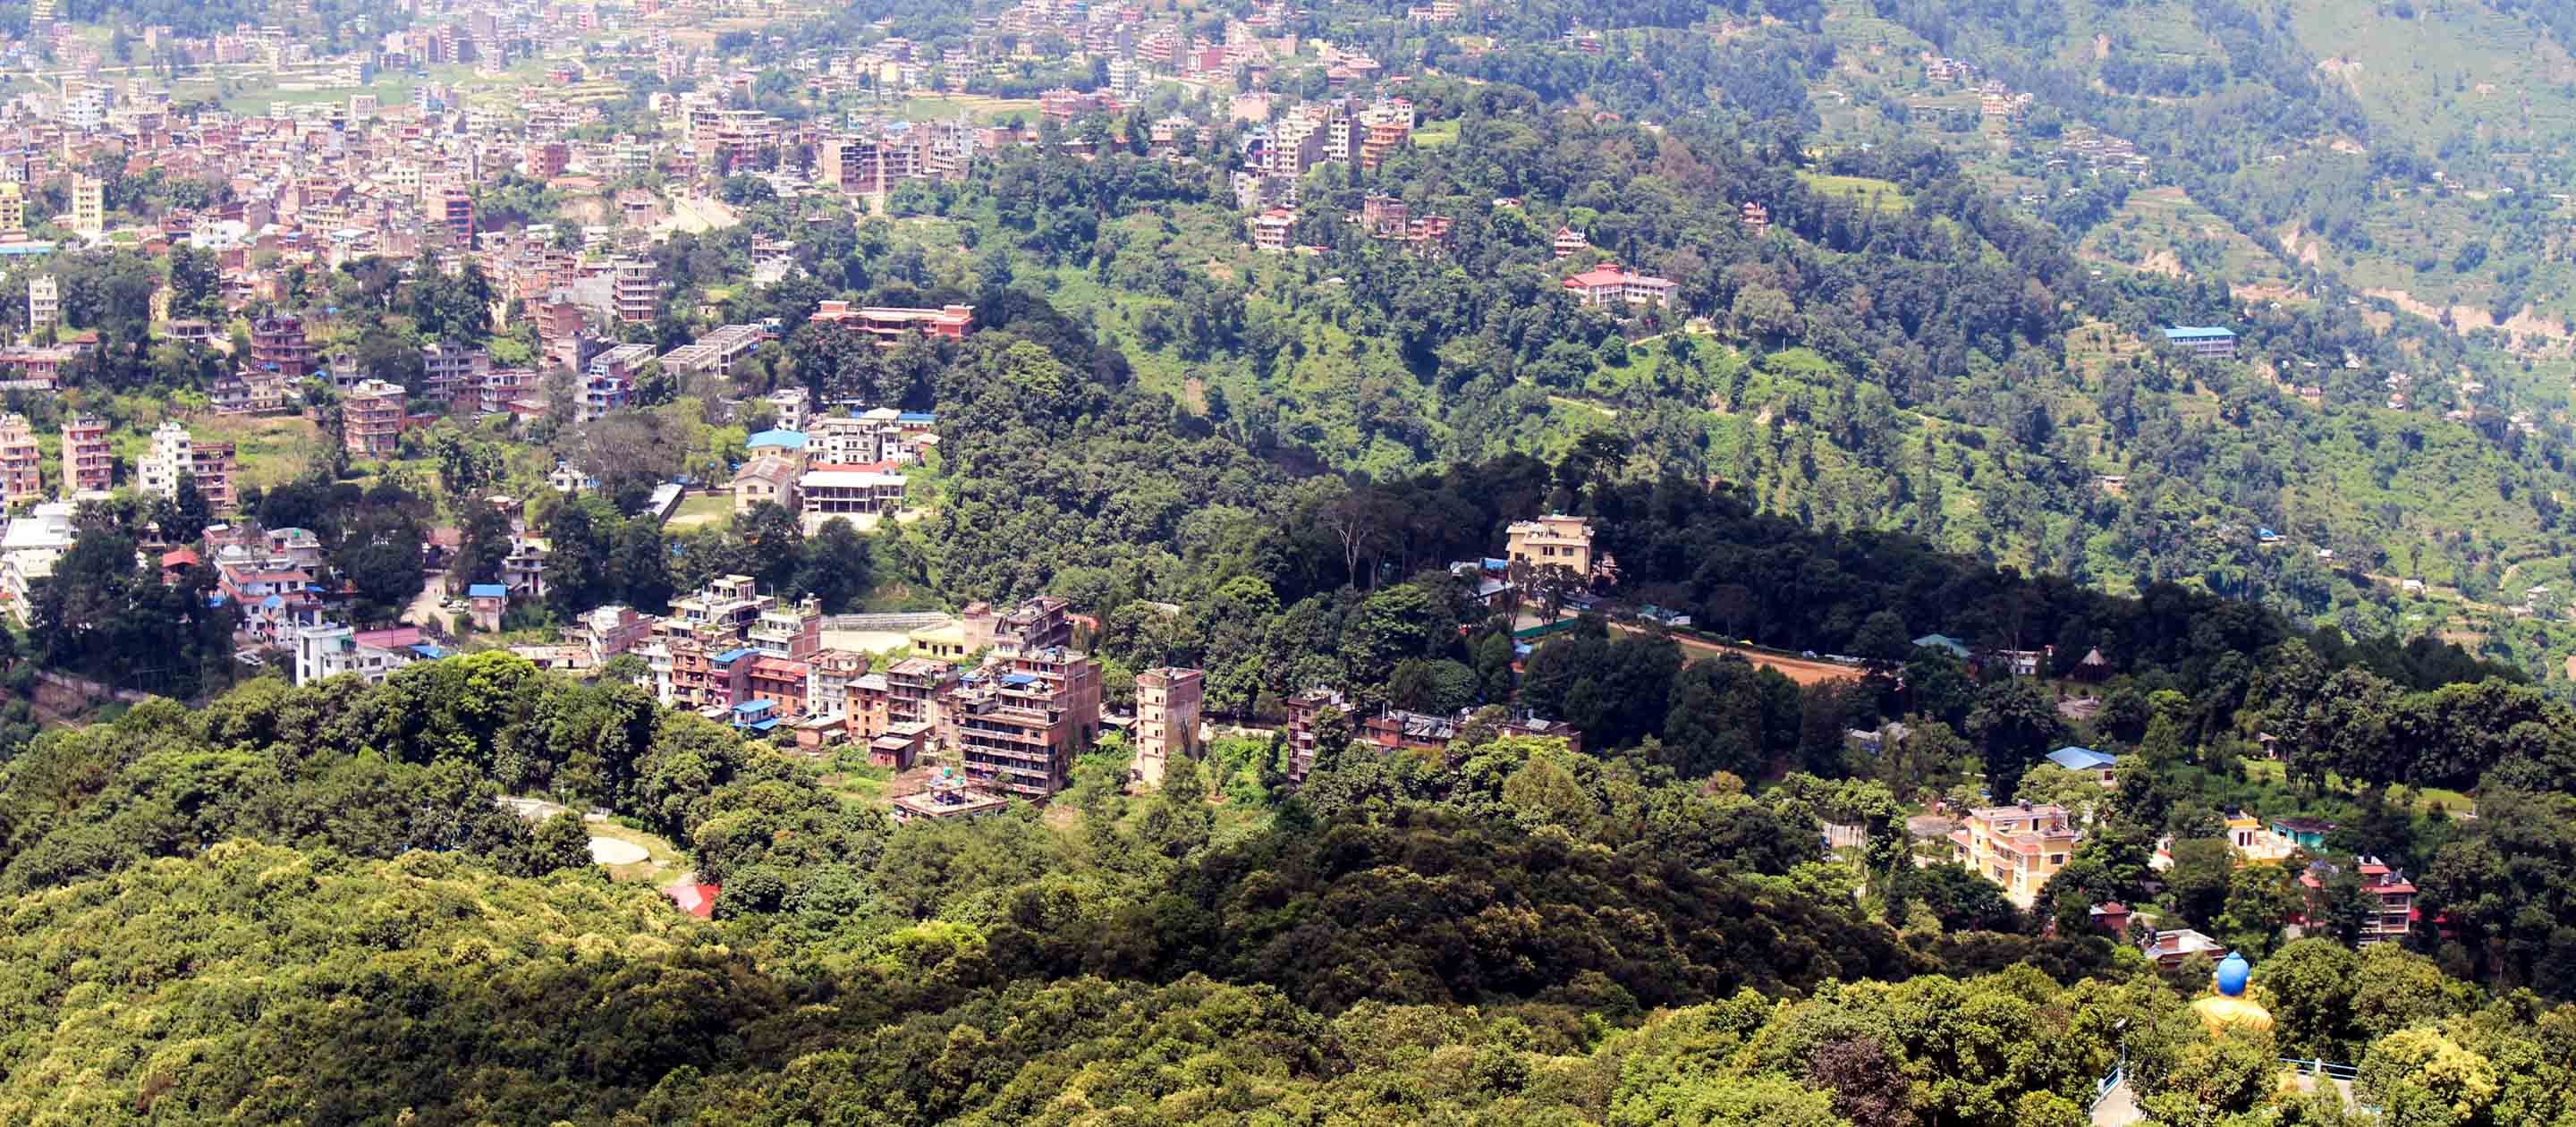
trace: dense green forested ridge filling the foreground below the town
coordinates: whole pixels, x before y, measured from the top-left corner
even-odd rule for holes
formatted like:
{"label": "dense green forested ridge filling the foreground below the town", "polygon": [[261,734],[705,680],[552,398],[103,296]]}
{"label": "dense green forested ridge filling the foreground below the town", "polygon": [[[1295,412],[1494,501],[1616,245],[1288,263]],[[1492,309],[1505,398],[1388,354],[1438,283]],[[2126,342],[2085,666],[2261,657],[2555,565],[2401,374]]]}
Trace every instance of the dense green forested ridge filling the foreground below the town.
{"label": "dense green forested ridge filling the foreground below the town", "polygon": [[[1273,803],[1252,744],[1149,795],[1087,764],[1069,818],[894,829],[631,695],[477,656],[49,731],[0,790],[0,1114],[2076,1124],[2125,1052],[2159,1122],[2349,1122],[2269,1094],[2293,1050],[2442,1114],[2409,1122],[2576,1114],[2576,1011],[2393,947],[2277,949],[2275,1050],[2210,1042],[2105,937],[2017,934],[1973,877],[1893,929],[1806,844],[1868,787],[1757,800],[1476,736],[1218,826]],[[227,764],[268,774],[209,785]],[[716,921],[605,883],[574,821],[492,808],[505,782],[670,829]]]}

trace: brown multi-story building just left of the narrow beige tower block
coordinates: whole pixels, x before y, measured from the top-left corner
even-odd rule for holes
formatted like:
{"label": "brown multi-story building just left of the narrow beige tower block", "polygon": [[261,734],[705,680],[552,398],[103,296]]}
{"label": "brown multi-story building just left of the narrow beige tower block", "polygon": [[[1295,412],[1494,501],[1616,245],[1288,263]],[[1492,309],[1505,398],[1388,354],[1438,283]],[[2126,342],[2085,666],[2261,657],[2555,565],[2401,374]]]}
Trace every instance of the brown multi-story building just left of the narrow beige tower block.
{"label": "brown multi-story building just left of the narrow beige tower block", "polygon": [[940,723],[969,780],[1048,798],[1100,736],[1100,666],[1061,646],[997,651],[948,692]]}

